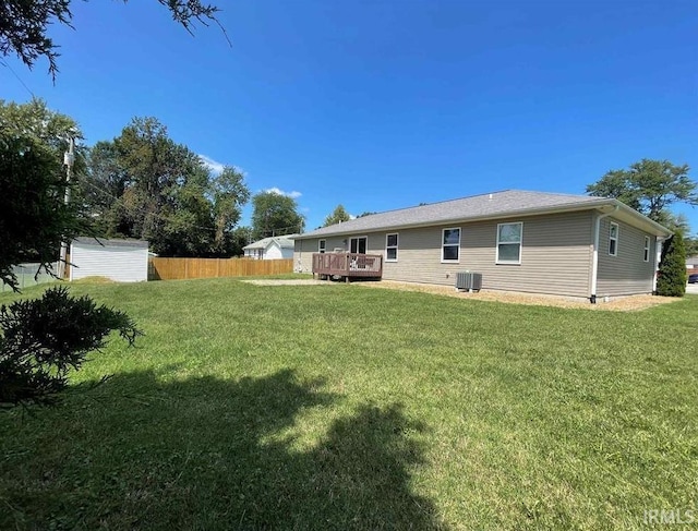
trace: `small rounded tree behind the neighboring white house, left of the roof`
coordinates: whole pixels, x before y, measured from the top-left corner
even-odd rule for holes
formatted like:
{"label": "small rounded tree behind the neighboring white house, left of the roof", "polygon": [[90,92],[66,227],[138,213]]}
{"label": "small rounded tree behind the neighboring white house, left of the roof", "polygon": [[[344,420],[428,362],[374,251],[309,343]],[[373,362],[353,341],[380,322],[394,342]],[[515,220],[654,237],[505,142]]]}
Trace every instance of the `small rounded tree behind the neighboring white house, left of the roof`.
{"label": "small rounded tree behind the neighboring white house, left of the roof", "polygon": [[260,192],[252,197],[252,237],[255,240],[303,231],[305,219],[298,214],[292,197],[274,191]]}

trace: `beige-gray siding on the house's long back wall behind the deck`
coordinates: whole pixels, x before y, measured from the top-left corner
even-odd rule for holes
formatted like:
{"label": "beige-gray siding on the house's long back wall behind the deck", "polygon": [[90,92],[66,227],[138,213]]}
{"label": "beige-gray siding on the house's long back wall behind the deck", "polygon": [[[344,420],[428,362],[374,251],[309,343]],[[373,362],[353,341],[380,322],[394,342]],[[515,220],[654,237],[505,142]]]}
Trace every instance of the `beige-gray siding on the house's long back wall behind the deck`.
{"label": "beige-gray siding on the house's long back wall behind the deck", "polygon": [[[521,264],[496,264],[497,222],[524,224]],[[383,278],[455,286],[456,273],[482,273],[483,289],[589,297],[592,258],[591,212],[554,214],[498,221],[351,234],[366,236],[369,254],[385,256],[386,234],[398,233],[398,261],[383,264]],[[442,230],[461,229],[460,260],[442,263]],[[327,238],[327,251],[347,249],[349,236]],[[312,267],[317,239],[296,242],[303,270]]]}

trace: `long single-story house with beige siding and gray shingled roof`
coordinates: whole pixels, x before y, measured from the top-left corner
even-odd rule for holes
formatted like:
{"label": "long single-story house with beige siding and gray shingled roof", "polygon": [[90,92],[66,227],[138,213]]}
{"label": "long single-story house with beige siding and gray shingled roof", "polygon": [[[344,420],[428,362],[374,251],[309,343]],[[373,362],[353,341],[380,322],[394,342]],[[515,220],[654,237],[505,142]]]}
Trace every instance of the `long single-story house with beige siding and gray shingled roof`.
{"label": "long single-story house with beige siding and gray shingled roof", "polygon": [[[506,190],[365,216],[294,237],[297,270],[313,255],[382,257],[383,279],[597,298],[651,293],[665,227],[617,200]],[[322,258],[322,257],[321,257]],[[315,258],[317,264],[327,261]],[[349,262],[345,262],[349,264]],[[356,262],[347,266],[351,276]]]}

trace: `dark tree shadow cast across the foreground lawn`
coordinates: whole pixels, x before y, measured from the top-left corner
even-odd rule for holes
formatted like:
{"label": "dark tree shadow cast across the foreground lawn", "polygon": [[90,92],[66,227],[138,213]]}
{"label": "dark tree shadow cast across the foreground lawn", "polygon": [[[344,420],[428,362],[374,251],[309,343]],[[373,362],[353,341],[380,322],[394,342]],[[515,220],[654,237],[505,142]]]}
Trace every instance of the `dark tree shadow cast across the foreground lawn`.
{"label": "dark tree shadow cast across the foreground lawn", "polygon": [[171,383],[142,372],[0,419],[0,528],[444,529],[410,488],[423,462],[410,434],[424,426],[398,406],[364,405],[293,448],[299,413],[340,398],[321,389],[292,371]]}

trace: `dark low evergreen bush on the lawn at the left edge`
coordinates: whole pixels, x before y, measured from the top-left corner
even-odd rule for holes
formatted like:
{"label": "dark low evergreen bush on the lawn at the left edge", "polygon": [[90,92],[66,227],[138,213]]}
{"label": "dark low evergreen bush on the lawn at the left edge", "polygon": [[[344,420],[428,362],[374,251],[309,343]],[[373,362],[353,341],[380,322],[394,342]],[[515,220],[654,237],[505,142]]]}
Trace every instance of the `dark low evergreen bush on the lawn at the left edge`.
{"label": "dark low evergreen bush on the lawn at the left edge", "polygon": [[68,385],[68,372],[106,345],[111,330],[133,345],[142,333],[119,311],[73,298],[63,287],[40,299],[0,307],[0,408],[50,405]]}

